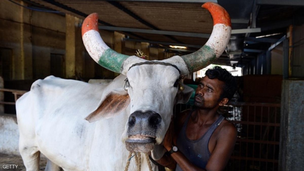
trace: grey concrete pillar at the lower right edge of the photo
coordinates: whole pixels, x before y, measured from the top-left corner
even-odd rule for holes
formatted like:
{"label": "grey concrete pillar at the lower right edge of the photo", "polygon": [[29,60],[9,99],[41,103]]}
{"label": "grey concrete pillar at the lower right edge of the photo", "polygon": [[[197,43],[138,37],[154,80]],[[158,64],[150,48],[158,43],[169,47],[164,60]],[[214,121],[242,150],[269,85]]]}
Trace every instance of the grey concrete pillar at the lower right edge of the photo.
{"label": "grey concrete pillar at the lower right edge of the photo", "polygon": [[304,80],[283,80],[279,171],[304,170]]}

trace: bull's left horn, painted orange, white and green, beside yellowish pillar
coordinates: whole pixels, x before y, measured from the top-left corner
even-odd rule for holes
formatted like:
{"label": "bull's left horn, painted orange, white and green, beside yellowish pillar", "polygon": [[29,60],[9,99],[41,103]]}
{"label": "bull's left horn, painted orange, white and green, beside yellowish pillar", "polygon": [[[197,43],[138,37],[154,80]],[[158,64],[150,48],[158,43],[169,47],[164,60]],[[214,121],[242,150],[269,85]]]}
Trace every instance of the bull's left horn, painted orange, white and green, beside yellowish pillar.
{"label": "bull's left horn, painted orange, white and green, beside yellowish pillar", "polygon": [[98,32],[98,14],[92,13],[82,23],[82,40],[90,56],[102,67],[116,73],[122,70],[122,63],[129,56],[115,52],[100,37]]}

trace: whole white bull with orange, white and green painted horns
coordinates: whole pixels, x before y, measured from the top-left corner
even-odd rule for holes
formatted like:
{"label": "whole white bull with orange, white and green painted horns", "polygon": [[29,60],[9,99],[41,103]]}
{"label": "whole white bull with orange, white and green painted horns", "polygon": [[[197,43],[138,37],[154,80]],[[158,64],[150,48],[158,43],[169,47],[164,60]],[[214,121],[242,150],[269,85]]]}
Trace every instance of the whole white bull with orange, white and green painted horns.
{"label": "whole white bull with orange, white and green painted horns", "polygon": [[[180,82],[181,75],[219,57],[230,38],[227,12],[214,3],[203,7],[214,20],[208,42],[195,53],[162,61],[114,52],[99,36],[97,14],[89,15],[82,26],[88,53],[121,75],[106,85],[53,76],[33,83],[16,102],[19,151],[26,169],[39,170],[40,152],[49,159],[46,170],[123,170],[128,151],[151,152],[160,159],[174,103],[187,102],[192,93]],[[148,170],[143,159],[141,170]],[[129,167],[135,170],[135,162]]]}

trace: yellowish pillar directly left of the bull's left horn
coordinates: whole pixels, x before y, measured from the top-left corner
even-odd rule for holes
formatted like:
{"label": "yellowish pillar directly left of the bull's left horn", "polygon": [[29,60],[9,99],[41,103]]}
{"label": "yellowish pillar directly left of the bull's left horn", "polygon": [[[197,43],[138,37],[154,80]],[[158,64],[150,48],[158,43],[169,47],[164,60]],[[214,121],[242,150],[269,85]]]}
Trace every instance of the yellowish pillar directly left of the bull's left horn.
{"label": "yellowish pillar directly left of the bull's left horn", "polygon": [[84,54],[81,31],[78,28],[80,19],[66,14],[66,36],[65,36],[65,76],[66,78],[75,78],[81,75],[84,65]]}

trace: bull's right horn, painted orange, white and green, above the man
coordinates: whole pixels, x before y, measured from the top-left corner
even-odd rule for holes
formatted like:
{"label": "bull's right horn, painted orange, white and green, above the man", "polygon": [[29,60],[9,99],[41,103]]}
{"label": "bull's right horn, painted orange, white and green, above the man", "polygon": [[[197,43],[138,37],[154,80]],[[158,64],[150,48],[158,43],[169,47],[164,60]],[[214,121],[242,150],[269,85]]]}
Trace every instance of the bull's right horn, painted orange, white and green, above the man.
{"label": "bull's right horn, painted orange, white and green, above the man", "polygon": [[220,5],[206,2],[202,8],[207,9],[213,18],[213,30],[209,40],[198,51],[181,56],[190,73],[201,70],[219,57],[225,50],[231,34],[231,20],[228,12]]}

